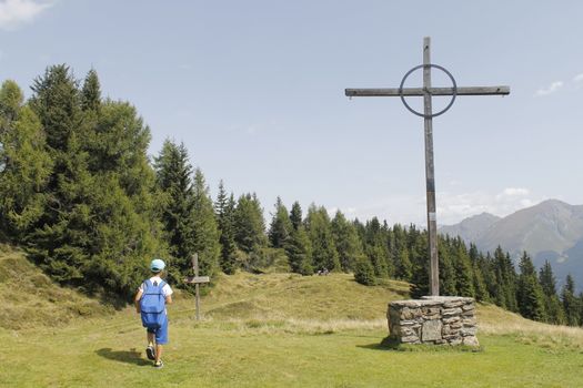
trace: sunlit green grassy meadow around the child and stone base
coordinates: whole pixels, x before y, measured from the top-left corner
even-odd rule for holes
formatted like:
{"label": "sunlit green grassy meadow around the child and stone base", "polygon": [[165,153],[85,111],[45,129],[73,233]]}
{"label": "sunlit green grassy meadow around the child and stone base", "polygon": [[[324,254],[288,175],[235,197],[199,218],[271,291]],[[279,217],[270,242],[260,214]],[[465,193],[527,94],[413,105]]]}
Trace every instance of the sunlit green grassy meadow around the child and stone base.
{"label": "sunlit green grassy meadow around the child and stone base", "polygon": [[380,346],[386,303],[408,286],[352,276],[223,276],[202,299],[177,295],[158,370],[128,307],[52,284],[19,252],[0,254],[0,386],[6,387],[581,387],[583,330],[479,306],[480,351]]}

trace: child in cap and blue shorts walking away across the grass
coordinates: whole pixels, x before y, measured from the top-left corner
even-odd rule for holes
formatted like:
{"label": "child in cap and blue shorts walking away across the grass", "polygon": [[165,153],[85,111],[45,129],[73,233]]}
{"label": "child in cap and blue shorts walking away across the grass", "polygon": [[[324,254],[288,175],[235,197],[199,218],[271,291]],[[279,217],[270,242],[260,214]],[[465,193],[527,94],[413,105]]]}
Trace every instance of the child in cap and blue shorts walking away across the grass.
{"label": "child in cap and blue shorts walking away across the grass", "polygon": [[[135,294],[134,303],[135,303],[135,310],[138,314],[141,313],[141,304],[140,300],[142,299],[142,296],[144,292],[148,290],[148,287],[151,287],[151,289],[161,286],[161,294],[163,296],[163,302],[169,305],[172,303],[172,288],[165,283],[161,275],[163,273],[163,269],[165,267],[165,264],[163,261],[159,258],[154,258],[152,263],[150,264],[150,270],[152,272],[152,277],[147,279],[140,285],[140,288],[138,289],[138,294]],[[147,338],[148,338],[148,347],[145,348],[145,355],[149,359],[154,361],[155,368],[162,368],[164,364],[162,363],[162,345],[168,344],[168,313],[163,310],[163,317],[161,317],[161,324],[159,328],[147,328]],[[142,319],[143,321],[143,319]],[[145,325],[144,325],[145,326]],[[155,338],[155,348],[154,348],[154,338]]]}

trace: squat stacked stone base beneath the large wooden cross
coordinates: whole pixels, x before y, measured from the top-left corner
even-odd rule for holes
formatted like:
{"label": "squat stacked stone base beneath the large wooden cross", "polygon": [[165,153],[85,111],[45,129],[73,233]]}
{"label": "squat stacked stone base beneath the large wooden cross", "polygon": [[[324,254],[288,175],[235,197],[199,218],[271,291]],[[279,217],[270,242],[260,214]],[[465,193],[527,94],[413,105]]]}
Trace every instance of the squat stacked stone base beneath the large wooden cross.
{"label": "squat stacked stone base beneath the large wooden cross", "polygon": [[473,298],[424,296],[389,304],[389,339],[396,344],[478,347]]}

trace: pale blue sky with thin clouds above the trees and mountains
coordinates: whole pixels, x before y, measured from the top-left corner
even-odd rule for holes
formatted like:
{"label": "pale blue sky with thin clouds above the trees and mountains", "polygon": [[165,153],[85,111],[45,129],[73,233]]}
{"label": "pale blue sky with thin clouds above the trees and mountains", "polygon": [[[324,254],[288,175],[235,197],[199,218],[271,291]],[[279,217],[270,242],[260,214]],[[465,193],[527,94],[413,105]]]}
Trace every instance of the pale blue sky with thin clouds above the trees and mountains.
{"label": "pale blue sky with thin clouds above the trees and mountains", "polygon": [[434,120],[438,222],[450,224],[583,203],[582,17],[581,1],[0,0],[0,79],[30,95],[49,64],[97,69],[103,94],[150,125],[152,155],[184,142],[213,195],[221,178],[257,192],[268,216],[280,195],[423,225],[422,120],[343,90],[398,86],[430,35],[459,85],[512,91],[460,96]]}

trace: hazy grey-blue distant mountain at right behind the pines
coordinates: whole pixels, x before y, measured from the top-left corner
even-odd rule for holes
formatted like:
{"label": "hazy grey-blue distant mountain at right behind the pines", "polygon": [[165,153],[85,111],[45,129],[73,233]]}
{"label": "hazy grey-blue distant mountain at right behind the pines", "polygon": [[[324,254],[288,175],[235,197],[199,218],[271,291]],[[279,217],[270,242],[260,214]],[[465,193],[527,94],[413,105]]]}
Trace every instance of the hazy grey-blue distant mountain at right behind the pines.
{"label": "hazy grey-blue distant mountain at right behind the pines", "polygon": [[459,235],[482,252],[493,252],[500,245],[515,259],[526,251],[537,267],[547,259],[560,284],[570,273],[577,288],[583,288],[583,205],[549,200],[495,218],[480,214],[442,226],[440,233]]}

